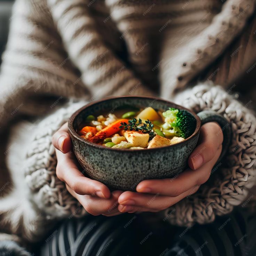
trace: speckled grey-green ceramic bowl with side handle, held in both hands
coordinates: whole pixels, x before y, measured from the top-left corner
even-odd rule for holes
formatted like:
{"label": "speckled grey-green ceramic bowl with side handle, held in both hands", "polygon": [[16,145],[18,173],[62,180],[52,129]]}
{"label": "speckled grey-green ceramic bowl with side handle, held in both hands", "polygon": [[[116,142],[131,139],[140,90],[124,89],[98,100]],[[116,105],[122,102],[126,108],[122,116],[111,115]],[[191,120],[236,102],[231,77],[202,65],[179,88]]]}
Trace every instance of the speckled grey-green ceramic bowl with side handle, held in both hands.
{"label": "speckled grey-green ceramic bowl with side handle, held in both hands", "polygon": [[[112,113],[123,105],[151,106],[161,111],[166,111],[169,107],[184,109],[196,119],[195,131],[181,143],[144,150],[113,149],[91,143],[76,133],[88,115],[101,111]],[[215,112],[203,111],[197,115],[160,98],[122,96],[105,98],[82,107],[71,116],[68,128],[74,154],[86,176],[104,183],[111,190],[134,191],[144,179],[171,178],[186,169],[187,159],[198,142],[201,123],[209,121],[217,121],[221,127],[227,123],[226,119]]]}

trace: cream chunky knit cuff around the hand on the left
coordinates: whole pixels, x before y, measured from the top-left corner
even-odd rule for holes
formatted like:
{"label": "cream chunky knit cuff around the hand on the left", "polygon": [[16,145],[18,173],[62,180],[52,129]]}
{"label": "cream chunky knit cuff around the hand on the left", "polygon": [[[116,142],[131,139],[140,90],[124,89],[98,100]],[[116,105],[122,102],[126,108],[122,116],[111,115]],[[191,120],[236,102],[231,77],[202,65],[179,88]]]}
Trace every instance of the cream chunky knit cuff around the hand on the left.
{"label": "cream chunky knit cuff around the hand on the left", "polygon": [[56,176],[57,159],[51,143],[53,134],[86,102],[69,102],[54,114],[43,119],[32,134],[26,153],[25,177],[32,200],[46,213],[48,219],[81,216],[86,211],[66,190],[65,183]]}

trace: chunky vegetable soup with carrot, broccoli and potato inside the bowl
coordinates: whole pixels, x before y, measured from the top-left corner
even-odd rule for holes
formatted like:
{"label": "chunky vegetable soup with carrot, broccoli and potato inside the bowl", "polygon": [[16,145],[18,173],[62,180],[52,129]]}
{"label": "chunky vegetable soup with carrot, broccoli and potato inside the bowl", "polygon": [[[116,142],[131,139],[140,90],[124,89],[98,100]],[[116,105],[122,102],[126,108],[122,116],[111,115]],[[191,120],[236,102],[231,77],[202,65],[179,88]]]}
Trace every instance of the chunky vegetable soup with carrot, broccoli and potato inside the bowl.
{"label": "chunky vegetable soup with carrot, broccoli and potato inside the bowl", "polygon": [[93,143],[115,149],[151,149],[184,141],[196,120],[185,110],[125,107],[85,117],[78,134]]}

